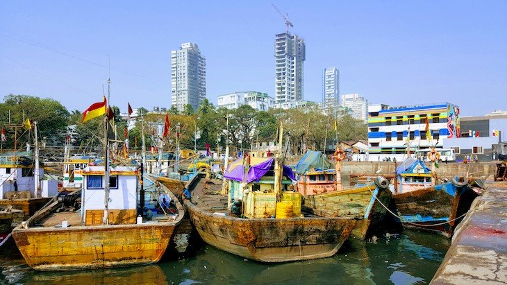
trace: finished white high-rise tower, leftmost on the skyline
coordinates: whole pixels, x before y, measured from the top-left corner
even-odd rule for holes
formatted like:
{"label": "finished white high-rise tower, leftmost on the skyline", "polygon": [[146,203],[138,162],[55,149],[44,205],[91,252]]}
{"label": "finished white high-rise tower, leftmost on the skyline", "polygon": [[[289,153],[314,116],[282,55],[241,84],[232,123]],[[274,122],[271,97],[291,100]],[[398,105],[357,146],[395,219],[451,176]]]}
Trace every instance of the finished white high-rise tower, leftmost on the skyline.
{"label": "finished white high-rise tower, leftmost on the skyline", "polygon": [[178,111],[187,104],[197,110],[206,98],[206,58],[197,44],[187,42],[171,51],[171,95],[171,105]]}

